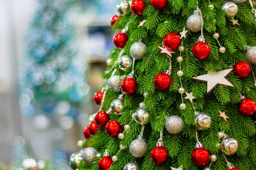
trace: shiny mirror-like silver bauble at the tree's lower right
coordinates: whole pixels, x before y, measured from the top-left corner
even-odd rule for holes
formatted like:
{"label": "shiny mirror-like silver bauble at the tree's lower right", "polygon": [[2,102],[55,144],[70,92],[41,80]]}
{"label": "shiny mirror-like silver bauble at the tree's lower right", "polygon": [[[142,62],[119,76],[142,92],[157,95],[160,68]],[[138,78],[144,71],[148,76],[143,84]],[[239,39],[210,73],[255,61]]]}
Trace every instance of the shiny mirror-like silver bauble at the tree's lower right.
{"label": "shiny mirror-like silver bauble at the tree's lower right", "polygon": [[234,138],[225,137],[221,141],[221,150],[224,155],[233,155],[238,150],[238,142]]}

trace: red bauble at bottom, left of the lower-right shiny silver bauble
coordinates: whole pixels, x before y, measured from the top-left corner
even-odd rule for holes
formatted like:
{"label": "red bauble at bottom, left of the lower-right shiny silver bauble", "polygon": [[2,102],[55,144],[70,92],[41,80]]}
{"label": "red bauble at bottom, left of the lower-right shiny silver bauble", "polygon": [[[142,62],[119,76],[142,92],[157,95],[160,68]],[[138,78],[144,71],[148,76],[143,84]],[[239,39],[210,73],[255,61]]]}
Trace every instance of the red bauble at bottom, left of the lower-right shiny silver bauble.
{"label": "red bauble at bottom, left of the lower-right shiny silver bauble", "polygon": [[205,166],[210,160],[210,154],[208,150],[204,148],[197,148],[193,150],[191,154],[192,162],[197,166]]}

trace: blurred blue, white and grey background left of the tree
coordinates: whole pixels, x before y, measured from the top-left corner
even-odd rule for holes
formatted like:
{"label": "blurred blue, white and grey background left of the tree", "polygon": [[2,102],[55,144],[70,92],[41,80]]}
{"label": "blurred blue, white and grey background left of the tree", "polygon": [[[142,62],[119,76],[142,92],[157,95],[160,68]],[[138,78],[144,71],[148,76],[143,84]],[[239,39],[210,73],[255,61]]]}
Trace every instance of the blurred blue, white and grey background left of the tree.
{"label": "blurred blue, white and grey background left of the tree", "polygon": [[119,1],[0,0],[0,170],[70,170]]}

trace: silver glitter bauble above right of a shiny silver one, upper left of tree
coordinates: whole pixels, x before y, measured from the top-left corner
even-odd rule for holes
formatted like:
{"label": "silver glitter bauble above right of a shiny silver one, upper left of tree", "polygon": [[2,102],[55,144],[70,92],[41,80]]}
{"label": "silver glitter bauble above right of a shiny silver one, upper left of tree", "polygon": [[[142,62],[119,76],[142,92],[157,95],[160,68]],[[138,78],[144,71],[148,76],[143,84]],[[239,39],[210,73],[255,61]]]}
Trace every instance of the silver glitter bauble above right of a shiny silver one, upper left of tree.
{"label": "silver glitter bauble above right of a shiny silver one, upper left of tree", "polygon": [[142,59],[147,53],[148,49],[142,42],[135,42],[131,45],[130,53],[131,57],[135,59]]}

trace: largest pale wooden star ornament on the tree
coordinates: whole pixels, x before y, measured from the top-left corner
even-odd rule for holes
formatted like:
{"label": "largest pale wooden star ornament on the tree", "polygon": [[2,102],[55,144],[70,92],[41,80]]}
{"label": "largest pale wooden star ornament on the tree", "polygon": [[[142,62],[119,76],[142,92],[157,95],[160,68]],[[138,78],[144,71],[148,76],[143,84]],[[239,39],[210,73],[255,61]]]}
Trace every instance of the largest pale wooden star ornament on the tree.
{"label": "largest pale wooden star ornament on the tree", "polygon": [[228,87],[234,87],[225,77],[233,71],[233,68],[227,69],[219,72],[209,72],[198,77],[192,77],[193,80],[198,80],[201,82],[207,82],[207,93],[212,91],[216,85],[226,85]]}

